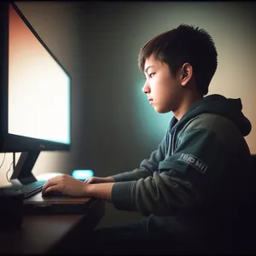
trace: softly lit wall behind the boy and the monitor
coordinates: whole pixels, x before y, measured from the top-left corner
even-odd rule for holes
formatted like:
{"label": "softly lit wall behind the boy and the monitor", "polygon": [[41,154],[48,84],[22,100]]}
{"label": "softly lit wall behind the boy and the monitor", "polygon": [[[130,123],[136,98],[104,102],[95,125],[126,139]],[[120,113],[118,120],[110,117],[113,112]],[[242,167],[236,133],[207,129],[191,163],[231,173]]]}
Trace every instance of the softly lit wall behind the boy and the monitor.
{"label": "softly lit wall behind the boy and the monitor", "polygon": [[[73,77],[73,147],[42,153],[34,173],[90,168],[103,177],[136,168],[160,143],[172,113],[158,114],[141,92],[137,53],[160,32],[181,23],[207,29],[218,49],[210,94],[241,97],[256,125],[253,60],[255,3],[19,3]],[[256,154],[256,131],[246,138]],[[1,155],[2,156],[2,155]],[[0,156],[0,157],[1,157]],[[0,171],[4,183],[11,155]],[[136,219],[107,204],[101,226]]]}

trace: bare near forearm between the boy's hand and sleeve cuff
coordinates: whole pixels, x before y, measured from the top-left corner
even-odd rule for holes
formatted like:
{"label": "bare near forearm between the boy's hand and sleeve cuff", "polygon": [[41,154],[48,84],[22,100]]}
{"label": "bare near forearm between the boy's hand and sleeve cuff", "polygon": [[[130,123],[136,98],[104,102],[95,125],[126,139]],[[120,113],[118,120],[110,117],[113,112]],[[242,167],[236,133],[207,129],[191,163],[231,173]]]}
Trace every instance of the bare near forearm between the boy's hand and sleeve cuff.
{"label": "bare near forearm between the boy's hand and sleeve cuff", "polygon": [[112,202],[111,192],[114,183],[86,184],[84,194],[104,201]]}

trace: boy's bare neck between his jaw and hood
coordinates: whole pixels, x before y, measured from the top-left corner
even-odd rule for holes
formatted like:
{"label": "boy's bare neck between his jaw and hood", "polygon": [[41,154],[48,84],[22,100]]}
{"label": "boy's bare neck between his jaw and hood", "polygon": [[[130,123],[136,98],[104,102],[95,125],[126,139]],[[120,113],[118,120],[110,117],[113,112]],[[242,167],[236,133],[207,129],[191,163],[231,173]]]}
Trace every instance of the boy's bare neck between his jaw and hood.
{"label": "boy's bare neck between his jaw and hood", "polygon": [[199,93],[194,94],[188,94],[184,97],[183,102],[180,104],[179,108],[176,110],[173,110],[172,113],[176,117],[176,119],[179,121],[183,118],[183,115],[189,110],[189,108],[192,107],[192,105],[195,104],[195,102],[200,101],[203,98],[203,96]]}

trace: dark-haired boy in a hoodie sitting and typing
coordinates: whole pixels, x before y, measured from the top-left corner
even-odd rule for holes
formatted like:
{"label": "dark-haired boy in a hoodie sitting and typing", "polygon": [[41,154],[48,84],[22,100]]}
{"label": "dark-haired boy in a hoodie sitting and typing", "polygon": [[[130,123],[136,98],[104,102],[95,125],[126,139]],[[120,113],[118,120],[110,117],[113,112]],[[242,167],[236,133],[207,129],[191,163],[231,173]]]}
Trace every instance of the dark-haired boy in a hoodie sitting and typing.
{"label": "dark-haired boy in a hoodie sitting and typing", "polygon": [[61,175],[49,179],[42,193],[96,197],[147,216],[96,231],[98,237],[168,237],[184,247],[229,247],[237,201],[247,189],[241,170],[249,175],[244,137],[251,124],[240,99],[206,96],[217,56],[211,36],[198,27],[181,25],[148,41],[138,57],[143,93],[156,112],[174,114],[159,148],[132,172],[85,183]]}

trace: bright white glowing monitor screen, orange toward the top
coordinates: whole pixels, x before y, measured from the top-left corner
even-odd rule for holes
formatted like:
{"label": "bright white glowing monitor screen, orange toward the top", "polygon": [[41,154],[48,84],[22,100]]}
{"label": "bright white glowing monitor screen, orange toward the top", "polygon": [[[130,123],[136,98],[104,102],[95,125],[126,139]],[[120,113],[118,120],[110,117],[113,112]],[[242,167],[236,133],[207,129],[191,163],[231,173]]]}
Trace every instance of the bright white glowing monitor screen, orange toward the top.
{"label": "bright white glowing monitor screen, orange toward the top", "polygon": [[9,4],[8,133],[70,144],[70,77]]}

